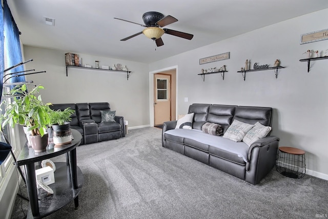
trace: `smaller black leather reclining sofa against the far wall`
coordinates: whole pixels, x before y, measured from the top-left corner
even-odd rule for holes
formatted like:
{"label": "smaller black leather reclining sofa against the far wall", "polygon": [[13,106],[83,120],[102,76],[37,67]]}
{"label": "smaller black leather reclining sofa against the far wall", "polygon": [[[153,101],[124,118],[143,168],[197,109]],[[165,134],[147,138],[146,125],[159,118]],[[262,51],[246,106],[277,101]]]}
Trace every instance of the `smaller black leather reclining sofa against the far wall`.
{"label": "smaller black leather reclining sofa against the far wall", "polygon": [[101,123],[100,110],[110,110],[109,103],[53,104],[53,110],[75,110],[70,126],[82,135],[81,145],[118,139],[125,136],[124,117],[115,116],[115,122]]}

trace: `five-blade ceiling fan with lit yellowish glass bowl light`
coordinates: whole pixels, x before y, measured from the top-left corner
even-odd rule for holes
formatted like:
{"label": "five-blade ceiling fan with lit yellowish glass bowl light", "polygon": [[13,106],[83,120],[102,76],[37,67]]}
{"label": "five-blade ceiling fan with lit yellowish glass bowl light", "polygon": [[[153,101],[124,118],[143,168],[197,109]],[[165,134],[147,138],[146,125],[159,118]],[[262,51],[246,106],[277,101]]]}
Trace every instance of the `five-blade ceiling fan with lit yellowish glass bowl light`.
{"label": "five-blade ceiling fan with lit yellowish glass bowl light", "polygon": [[[117,18],[117,17],[114,17],[114,18],[119,19],[121,21],[130,22],[125,19],[121,19],[121,18]],[[189,39],[189,40],[194,37],[193,34],[183,33],[180,31],[171,30],[171,29],[167,29],[167,28],[161,28],[161,27],[167,26],[169,24],[172,24],[172,23],[178,21],[176,18],[172,17],[171,15],[164,17],[164,15],[159,12],[149,11],[142,15],[142,20],[144,20],[145,25],[138,24],[135,22],[130,22],[130,23],[140,25],[141,27],[146,27],[144,30],[142,30],[139,33],[128,36],[126,38],[123,38],[120,41],[127,41],[128,39],[131,39],[132,37],[135,37],[135,36],[143,33],[148,38],[153,39],[153,41],[156,42],[157,46],[163,46],[164,43],[161,39],[161,36],[164,33],[167,33],[167,34],[170,34],[173,36],[178,36],[178,37],[185,38],[185,39]]]}

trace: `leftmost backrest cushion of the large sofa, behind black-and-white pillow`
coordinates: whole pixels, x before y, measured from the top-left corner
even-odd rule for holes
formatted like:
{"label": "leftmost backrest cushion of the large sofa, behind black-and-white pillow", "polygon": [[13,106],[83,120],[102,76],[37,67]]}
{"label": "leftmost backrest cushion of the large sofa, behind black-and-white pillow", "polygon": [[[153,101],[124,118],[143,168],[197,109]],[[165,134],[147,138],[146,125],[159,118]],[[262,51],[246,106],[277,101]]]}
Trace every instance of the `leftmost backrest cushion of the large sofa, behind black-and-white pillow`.
{"label": "leftmost backrest cushion of the large sofa, behind black-and-white pillow", "polygon": [[192,104],[189,106],[188,113],[194,113],[193,129],[201,130],[206,123],[207,115],[211,104]]}

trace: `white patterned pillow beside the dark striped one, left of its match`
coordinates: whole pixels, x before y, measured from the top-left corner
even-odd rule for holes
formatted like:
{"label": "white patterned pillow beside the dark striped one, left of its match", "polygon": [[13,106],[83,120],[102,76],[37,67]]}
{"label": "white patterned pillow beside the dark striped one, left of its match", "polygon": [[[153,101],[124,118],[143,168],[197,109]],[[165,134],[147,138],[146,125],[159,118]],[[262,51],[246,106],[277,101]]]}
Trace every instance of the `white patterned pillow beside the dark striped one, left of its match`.
{"label": "white patterned pillow beside the dark striped one, left of its match", "polygon": [[234,142],[240,142],[245,134],[253,128],[254,125],[240,122],[238,120],[234,120],[232,124],[227,129],[226,133],[224,133],[223,137],[228,138]]}

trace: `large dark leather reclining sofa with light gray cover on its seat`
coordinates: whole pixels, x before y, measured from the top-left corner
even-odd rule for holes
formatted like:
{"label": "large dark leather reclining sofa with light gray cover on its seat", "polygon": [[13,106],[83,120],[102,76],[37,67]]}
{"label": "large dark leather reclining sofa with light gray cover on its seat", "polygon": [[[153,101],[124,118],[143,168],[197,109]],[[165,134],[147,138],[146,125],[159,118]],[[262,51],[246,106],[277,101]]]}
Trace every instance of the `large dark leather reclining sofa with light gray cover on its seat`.
{"label": "large dark leather reclining sofa with light gray cover on its seat", "polygon": [[[163,147],[189,156],[253,185],[258,184],[275,166],[279,138],[269,136],[270,133],[249,147],[243,142],[235,143],[222,136],[199,131],[204,123],[210,122],[222,125],[224,134],[235,119],[248,124],[259,122],[264,126],[271,126],[272,108],[192,104],[188,113],[194,113],[193,130],[191,131],[206,137],[206,141],[203,141],[203,138],[197,139],[197,135],[195,137],[172,134],[177,121],[169,121],[163,124]],[[239,148],[235,147],[236,144]],[[227,150],[229,147],[240,151],[232,152]],[[244,154],[244,156],[240,154]]]}

